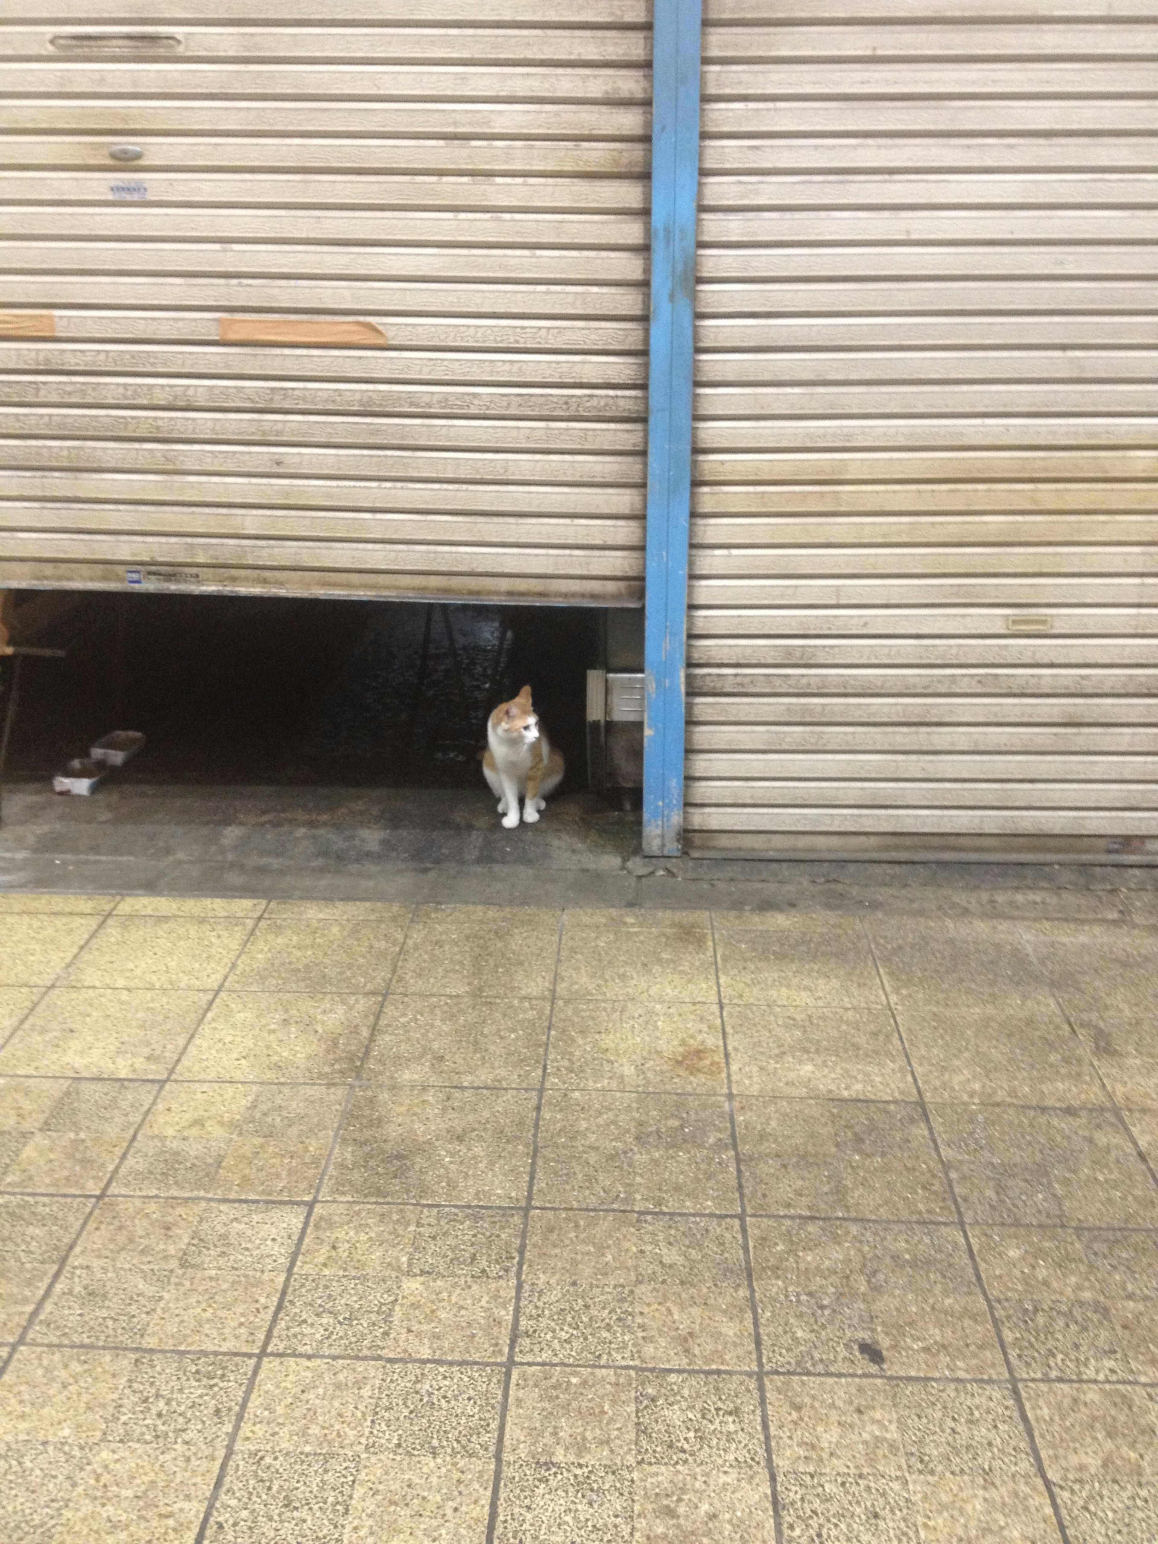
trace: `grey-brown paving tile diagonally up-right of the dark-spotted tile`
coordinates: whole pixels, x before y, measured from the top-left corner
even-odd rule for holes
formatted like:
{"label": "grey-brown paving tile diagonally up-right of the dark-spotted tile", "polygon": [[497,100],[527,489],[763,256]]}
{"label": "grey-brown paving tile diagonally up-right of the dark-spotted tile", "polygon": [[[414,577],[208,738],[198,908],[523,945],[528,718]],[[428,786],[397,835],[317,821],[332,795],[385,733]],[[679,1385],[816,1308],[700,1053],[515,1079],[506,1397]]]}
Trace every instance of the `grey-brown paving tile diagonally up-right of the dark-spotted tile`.
{"label": "grey-brown paving tile diagonally up-right of the dark-spotted tile", "polygon": [[971,1223],[1158,1226],[1158,1187],[1110,1110],[934,1104]]}

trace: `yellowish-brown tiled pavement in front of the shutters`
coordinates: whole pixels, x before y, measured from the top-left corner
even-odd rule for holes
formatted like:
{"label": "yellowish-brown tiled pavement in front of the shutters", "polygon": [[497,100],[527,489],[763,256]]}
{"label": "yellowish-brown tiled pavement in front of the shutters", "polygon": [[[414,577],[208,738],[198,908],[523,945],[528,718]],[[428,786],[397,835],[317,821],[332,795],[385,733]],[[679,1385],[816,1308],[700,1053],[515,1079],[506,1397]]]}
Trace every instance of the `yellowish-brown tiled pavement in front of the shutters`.
{"label": "yellowish-brown tiled pavement in front of the shutters", "polygon": [[1158,929],[0,897],[5,1544],[1153,1544]]}

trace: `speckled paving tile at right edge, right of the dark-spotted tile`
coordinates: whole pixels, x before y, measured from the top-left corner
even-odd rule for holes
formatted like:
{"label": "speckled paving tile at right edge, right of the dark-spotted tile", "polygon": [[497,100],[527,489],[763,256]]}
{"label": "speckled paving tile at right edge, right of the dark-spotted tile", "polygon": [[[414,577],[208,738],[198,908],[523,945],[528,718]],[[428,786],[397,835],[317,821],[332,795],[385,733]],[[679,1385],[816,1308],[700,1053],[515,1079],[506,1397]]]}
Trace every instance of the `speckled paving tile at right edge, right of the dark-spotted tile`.
{"label": "speckled paving tile at right edge, right of the dark-spotted tile", "polygon": [[1158,1234],[970,1234],[1021,1377],[1158,1377]]}

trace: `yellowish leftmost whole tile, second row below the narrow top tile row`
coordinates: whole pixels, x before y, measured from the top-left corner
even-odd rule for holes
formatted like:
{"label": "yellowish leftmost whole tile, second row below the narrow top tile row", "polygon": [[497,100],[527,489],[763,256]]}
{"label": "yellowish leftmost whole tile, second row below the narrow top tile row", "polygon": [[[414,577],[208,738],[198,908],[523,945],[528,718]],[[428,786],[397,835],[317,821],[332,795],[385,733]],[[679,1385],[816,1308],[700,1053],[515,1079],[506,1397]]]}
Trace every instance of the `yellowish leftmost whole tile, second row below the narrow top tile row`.
{"label": "yellowish leftmost whole tile, second row below the narrow top tile row", "polygon": [[0,1073],[165,1078],[210,1001],[208,991],[56,987],[0,1051]]}

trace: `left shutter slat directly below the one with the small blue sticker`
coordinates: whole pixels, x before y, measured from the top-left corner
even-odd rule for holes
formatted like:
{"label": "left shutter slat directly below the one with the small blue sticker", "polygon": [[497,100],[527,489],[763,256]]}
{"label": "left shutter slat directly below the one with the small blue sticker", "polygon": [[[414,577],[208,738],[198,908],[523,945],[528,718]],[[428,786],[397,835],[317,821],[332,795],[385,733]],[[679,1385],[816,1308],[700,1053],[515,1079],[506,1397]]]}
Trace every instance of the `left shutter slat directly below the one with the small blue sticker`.
{"label": "left shutter slat directly below the one with the small blue sticker", "polygon": [[[133,185],[130,179],[125,185]],[[1115,216],[1124,218],[1124,216]],[[284,241],[343,245],[459,247],[639,247],[644,221],[627,215],[414,213],[367,210],[153,208],[148,202],[111,207],[9,207],[9,236],[62,236],[120,241]],[[142,255],[144,256],[144,255]],[[414,256],[411,255],[411,264]]]}

